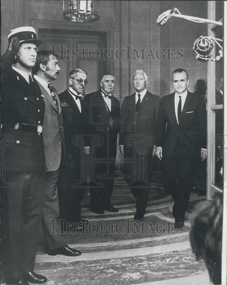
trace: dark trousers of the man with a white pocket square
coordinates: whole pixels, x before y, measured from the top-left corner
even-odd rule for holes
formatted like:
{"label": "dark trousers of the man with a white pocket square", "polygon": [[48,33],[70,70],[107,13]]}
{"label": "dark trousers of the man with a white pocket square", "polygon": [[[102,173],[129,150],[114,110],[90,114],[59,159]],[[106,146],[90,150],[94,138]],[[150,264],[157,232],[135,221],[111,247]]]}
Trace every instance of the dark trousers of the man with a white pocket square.
{"label": "dark trousers of the man with a white pocket square", "polygon": [[[162,158],[163,180],[165,190],[173,197],[173,215],[184,218],[193,185],[193,155],[184,155],[180,143],[177,143],[168,158]],[[177,184],[177,178],[179,183]]]}

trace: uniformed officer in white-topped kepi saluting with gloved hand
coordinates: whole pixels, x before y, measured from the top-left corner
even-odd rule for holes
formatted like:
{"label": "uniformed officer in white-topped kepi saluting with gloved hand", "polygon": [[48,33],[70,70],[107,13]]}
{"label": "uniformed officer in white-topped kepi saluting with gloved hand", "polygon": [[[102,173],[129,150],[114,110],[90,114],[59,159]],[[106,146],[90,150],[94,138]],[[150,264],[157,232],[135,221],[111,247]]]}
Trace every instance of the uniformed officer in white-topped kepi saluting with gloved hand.
{"label": "uniformed officer in white-topped kepi saluting with gloved hand", "polygon": [[33,270],[46,171],[42,136],[45,104],[31,68],[42,42],[32,27],[11,30],[8,41],[1,57],[1,135],[11,142],[5,147],[2,165],[4,186],[8,185],[1,192],[2,266],[7,282],[41,284],[47,278]]}

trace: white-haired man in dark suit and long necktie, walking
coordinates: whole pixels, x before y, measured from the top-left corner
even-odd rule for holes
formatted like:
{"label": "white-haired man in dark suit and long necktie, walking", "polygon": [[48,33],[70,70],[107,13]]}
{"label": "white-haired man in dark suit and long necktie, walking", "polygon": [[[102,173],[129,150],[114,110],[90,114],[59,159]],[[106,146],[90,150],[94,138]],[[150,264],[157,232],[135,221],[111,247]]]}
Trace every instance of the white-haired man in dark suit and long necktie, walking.
{"label": "white-haired man in dark suit and long necktie, walking", "polygon": [[161,101],[159,96],[146,89],[147,82],[145,71],[134,72],[133,86],[136,92],[124,98],[122,110],[125,111],[125,118],[119,133],[119,148],[124,155],[124,172],[130,177],[127,182],[134,198],[137,197],[134,216],[136,220],[143,218],[148,202],[154,164],[152,157],[155,127]]}

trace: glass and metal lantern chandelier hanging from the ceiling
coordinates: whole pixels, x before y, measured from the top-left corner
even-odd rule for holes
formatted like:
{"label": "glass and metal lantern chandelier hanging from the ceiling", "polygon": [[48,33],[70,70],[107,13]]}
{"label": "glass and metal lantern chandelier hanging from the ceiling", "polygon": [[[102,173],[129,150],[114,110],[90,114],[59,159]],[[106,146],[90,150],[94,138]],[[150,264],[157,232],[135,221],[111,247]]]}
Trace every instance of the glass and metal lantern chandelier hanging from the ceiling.
{"label": "glass and metal lantern chandelier hanging from the ceiling", "polygon": [[94,0],[64,0],[62,17],[77,23],[98,21],[99,13],[96,2]]}

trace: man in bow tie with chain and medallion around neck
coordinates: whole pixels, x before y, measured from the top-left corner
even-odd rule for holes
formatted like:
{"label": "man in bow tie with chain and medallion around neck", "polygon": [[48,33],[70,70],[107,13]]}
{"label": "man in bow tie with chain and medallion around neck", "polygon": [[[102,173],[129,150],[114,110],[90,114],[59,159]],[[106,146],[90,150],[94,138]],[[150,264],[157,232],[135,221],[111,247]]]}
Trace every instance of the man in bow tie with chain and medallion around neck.
{"label": "man in bow tie with chain and medallion around neck", "polygon": [[85,95],[83,99],[86,112],[85,132],[102,141],[101,145],[95,146],[94,155],[100,161],[93,165],[95,181],[101,186],[90,188],[90,209],[97,214],[104,214],[104,210],[118,212],[111,205],[120,117],[120,102],[112,94],[114,84],[114,76],[104,74],[100,80],[101,89]]}

